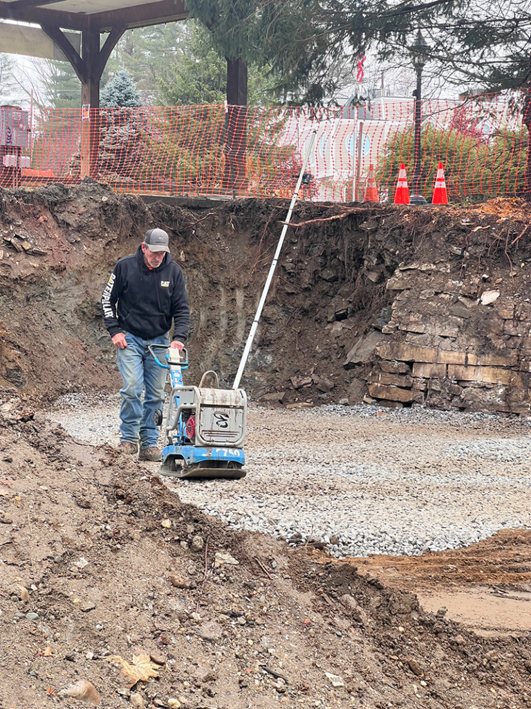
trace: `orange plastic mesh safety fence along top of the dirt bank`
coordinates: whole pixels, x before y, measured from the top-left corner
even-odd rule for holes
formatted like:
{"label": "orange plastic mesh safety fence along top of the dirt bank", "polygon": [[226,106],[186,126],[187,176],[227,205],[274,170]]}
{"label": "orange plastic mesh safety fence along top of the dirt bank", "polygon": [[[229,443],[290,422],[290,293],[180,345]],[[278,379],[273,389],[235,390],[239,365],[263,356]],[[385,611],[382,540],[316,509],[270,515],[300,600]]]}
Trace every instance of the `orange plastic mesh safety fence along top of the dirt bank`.
{"label": "orange plastic mesh safety fence along top of the dirt bank", "polygon": [[[531,192],[529,99],[422,102],[418,186],[428,202],[440,162],[450,201]],[[29,116],[22,147],[0,145],[0,186],[88,176],[133,194],[287,197],[316,129],[302,199],[362,200],[372,164],[379,199],[392,201],[401,163],[410,179],[415,167],[414,108],[391,96],[340,108],[44,108]]]}

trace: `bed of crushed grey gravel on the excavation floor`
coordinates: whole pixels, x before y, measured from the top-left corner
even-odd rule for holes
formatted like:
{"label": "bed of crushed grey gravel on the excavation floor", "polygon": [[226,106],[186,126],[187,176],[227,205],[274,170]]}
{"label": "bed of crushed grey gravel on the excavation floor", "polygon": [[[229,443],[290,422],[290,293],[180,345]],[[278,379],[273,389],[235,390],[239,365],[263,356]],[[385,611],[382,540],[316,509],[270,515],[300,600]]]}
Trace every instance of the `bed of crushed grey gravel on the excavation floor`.
{"label": "bed of crushed grey gravel on the excavation floor", "polygon": [[[48,415],[116,445],[119,408],[118,394],[69,394]],[[251,404],[246,478],[165,481],[232,529],[324,542],[338,558],[457,549],[531,528],[530,429],[486,413]]]}

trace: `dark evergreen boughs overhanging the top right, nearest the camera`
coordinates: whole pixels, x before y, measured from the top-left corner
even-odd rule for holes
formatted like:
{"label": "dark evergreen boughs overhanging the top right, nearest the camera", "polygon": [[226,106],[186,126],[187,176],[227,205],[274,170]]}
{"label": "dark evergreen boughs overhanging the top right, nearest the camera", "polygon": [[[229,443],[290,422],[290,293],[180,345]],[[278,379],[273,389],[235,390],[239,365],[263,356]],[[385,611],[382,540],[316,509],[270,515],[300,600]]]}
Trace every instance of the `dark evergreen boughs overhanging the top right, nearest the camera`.
{"label": "dark evergreen boughs overhanging the top right, nearest the camera", "polygon": [[[531,133],[531,12],[510,0],[187,0],[190,14],[212,32],[229,59],[269,65],[285,99],[321,104],[338,88],[340,72],[369,49],[380,60],[411,65],[419,28],[428,59],[446,86],[469,93],[520,89],[510,97]],[[436,62],[436,63],[435,63]],[[525,195],[531,199],[531,150]]]}

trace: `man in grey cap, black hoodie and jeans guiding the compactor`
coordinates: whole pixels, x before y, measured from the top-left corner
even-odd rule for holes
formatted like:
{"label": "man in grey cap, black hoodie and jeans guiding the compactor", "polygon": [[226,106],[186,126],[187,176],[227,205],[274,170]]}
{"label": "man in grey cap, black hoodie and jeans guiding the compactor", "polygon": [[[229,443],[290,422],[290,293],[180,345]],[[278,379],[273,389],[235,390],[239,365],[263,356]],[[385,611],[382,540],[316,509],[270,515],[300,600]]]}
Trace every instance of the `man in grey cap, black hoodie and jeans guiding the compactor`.
{"label": "man in grey cap, black hoodie and jeans guiding the compactor", "polygon": [[153,414],[164,403],[166,369],[156,364],[147,347],[182,350],[190,324],[183,273],[171,259],[168,243],[164,230],[147,231],[137,252],[117,262],[101,296],[105,328],[116,347],[123,380],[118,450],[138,452],[139,460],[161,459]]}

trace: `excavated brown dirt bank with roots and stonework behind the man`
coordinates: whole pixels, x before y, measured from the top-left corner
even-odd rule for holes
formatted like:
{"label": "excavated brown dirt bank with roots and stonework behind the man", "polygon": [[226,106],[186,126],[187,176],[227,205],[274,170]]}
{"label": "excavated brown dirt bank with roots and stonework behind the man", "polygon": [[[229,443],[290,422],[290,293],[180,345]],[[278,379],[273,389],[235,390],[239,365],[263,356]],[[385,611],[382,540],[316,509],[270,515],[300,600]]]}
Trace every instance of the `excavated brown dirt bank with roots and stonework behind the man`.
{"label": "excavated brown dirt bank with roots and stonework behind the man", "polygon": [[[2,194],[0,384],[116,388],[99,298],[147,228],[166,229],[192,306],[188,381],[232,384],[286,201],[149,206],[86,181]],[[300,203],[243,384],[302,405],[529,411],[530,211]]]}

